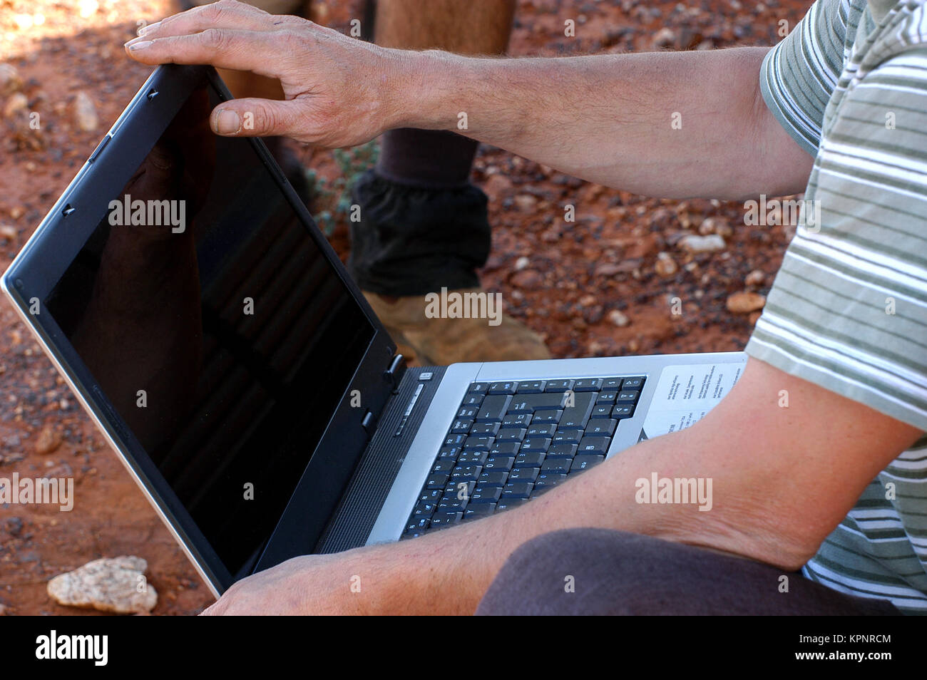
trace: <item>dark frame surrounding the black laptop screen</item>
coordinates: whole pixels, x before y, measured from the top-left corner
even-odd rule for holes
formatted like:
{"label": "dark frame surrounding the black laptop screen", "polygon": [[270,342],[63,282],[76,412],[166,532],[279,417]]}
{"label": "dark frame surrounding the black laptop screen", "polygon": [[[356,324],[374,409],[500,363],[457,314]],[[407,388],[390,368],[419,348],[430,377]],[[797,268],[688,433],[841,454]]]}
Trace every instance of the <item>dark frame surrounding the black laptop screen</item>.
{"label": "dark frame surrounding the black laptop screen", "polygon": [[[247,573],[229,573],[206,536],[164,482],[144,448],[95,383],[57,322],[47,312],[43,313],[44,309],[40,309],[38,314],[30,312],[31,300],[38,298],[44,301],[47,298],[105,215],[108,202],[119,195],[187,97],[204,82],[209,82],[222,100],[232,98],[211,67],[171,64],[159,67],[148,77],[0,278],[0,287],[142,488],[161,520],[184,548],[187,557],[218,596]],[[286,181],[267,147],[260,139],[248,139],[248,143],[373,327],[371,342],[341,395],[286,510],[256,567],[249,570],[253,573],[288,557],[311,552],[314,548],[369,439],[370,432],[362,426],[363,417],[371,411],[375,420],[393,390],[394,377],[385,375],[385,371],[393,360],[396,346],[360,289],[350,279],[335,250],[318,230],[309,210]],[[91,211],[90,206],[103,208]],[[350,404],[349,395],[355,389],[362,392],[362,409]],[[370,423],[368,429],[372,432]]]}

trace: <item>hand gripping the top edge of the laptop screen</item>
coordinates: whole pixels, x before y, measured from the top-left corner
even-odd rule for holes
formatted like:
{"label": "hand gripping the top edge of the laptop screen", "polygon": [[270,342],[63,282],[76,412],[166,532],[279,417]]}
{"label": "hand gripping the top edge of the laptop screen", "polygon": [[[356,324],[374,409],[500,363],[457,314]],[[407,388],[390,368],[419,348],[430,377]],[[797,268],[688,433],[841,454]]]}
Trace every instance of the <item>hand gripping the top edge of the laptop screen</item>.
{"label": "hand gripping the top edge of the laptop screen", "polygon": [[126,44],[145,64],[212,64],[277,78],[286,100],[235,99],[212,111],[213,132],[282,135],[312,145],[360,145],[393,123],[398,50],[298,17],[222,0],[146,26]]}

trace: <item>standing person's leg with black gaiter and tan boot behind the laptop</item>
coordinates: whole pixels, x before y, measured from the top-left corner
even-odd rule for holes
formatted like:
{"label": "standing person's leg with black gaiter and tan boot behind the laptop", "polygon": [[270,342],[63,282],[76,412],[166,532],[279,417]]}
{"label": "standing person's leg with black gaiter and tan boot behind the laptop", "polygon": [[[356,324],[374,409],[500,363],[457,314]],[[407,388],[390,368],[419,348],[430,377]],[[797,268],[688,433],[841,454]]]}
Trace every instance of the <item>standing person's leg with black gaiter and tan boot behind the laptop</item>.
{"label": "standing person's leg with black gaiter and tan boot behind the laptop", "polygon": [[[514,0],[376,0],[375,42],[406,49],[502,54]],[[422,363],[547,359],[540,337],[511,317],[428,319],[425,295],[480,292],[489,256],[487,198],[469,183],[477,143],[452,132],[402,129],[355,185],[349,270],[400,352]]]}

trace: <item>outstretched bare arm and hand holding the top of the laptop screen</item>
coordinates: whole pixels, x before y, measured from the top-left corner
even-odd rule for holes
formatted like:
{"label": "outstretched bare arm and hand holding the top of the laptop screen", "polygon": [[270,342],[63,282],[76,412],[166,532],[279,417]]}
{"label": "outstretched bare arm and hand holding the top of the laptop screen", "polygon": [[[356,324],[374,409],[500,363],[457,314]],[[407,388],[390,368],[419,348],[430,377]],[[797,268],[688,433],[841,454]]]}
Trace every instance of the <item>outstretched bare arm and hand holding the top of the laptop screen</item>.
{"label": "outstretched bare arm and hand holding the top of the laptop screen", "polygon": [[148,27],[127,52],[146,64],[207,63],[280,79],[285,101],[217,107],[212,127],[221,134],[337,147],[397,127],[451,130],[592,182],[663,197],[791,194],[811,169],[759,94],[762,47],[460,57],[378,47],[222,0]]}

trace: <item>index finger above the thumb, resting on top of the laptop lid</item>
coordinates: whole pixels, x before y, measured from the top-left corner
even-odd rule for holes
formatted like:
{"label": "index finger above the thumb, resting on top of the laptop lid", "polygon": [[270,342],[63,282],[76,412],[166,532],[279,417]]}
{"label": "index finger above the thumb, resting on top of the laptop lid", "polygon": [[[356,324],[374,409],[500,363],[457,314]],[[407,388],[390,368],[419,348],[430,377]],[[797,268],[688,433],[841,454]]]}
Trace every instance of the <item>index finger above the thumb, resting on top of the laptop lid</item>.
{"label": "index finger above the thumb, resting on top of the laptop lid", "polygon": [[[268,31],[241,31],[210,28],[189,35],[142,40],[126,44],[129,56],[143,64],[211,64],[220,69],[249,70],[261,76],[278,78],[273,55],[279,49],[279,34]],[[277,44],[274,45],[274,41]]]}

